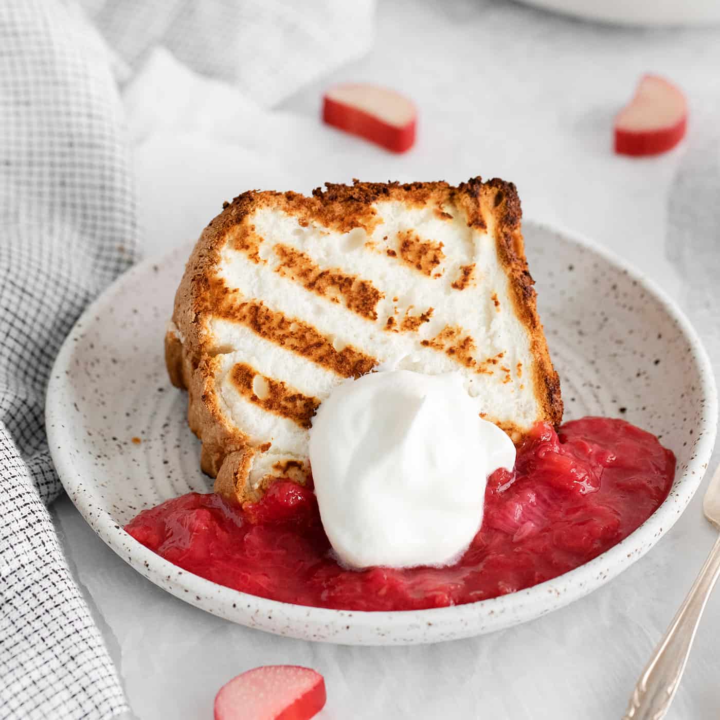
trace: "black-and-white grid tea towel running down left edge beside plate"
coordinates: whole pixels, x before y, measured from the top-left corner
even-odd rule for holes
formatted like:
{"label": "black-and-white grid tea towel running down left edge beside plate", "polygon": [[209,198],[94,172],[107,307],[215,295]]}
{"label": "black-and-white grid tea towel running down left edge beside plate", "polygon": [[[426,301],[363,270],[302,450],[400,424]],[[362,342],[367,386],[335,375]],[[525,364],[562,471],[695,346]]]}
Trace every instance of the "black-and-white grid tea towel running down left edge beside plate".
{"label": "black-and-white grid tea towel running down left edge beside plate", "polygon": [[72,6],[0,3],[0,717],[127,709],[48,510],[45,387],[85,305],[133,259],[122,105]]}

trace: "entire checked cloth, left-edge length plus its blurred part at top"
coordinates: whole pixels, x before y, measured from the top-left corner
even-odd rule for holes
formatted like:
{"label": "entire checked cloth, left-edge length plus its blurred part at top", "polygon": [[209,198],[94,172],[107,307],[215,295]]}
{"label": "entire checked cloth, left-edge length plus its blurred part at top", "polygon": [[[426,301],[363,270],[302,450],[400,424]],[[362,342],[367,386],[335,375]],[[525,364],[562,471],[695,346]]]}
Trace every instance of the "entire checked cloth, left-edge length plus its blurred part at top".
{"label": "entire checked cloth, left-edge length plus its blurred part at top", "polygon": [[[130,68],[161,42],[265,104],[366,50],[374,5],[84,1]],[[128,710],[45,508],[43,420],[63,338],[138,247],[117,55],[69,0],[0,2],[0,719]]]}

